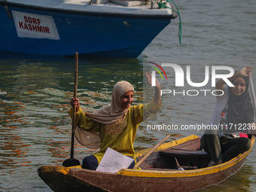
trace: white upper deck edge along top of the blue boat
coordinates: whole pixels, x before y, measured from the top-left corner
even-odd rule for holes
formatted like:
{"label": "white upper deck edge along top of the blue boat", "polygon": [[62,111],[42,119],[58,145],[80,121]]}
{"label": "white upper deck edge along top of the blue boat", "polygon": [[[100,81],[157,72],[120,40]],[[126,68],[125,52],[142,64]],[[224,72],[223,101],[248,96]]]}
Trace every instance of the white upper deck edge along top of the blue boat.
{"label": "white upper deck edge along top of the blue boat", "polygon": [[[1,2],[5,2],[0,0]],[[154,12],[154,14],[172,14],[171,9],[160,9],[157,5],[157,1],[152,1],[153,7],[151,7],[151,1],[144,0],[93,0],[90,5],[89,0],[59,0],[59,1],[38,1],[38,0],[8,0],[8,3],[35,6],[41,8],[62,9],[62,10],[75,10],[75,11],[100,11],[106,13],[122,13],[126,14],[133,12],[133,14],[148,14]],[[7,3],[7,2],[5,2]],[[171,7],[169,3],[166,4]]]}

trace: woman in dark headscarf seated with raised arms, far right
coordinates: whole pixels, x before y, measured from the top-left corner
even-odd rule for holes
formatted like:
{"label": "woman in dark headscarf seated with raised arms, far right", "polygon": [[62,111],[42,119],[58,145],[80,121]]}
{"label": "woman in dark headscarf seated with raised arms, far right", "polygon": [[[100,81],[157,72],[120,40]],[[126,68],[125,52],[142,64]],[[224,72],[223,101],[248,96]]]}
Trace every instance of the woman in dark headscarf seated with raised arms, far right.
{"label": "woman in dark headscarf seated with raised arms, far right", "polygon": [[201,148],[212,157],[209,166],[231,160],[251,147],[250,139],[230,135],[239,132],[238,127],[241,125],[247,126],[242,132],[255,135],[254,108],[248,93],[250,74],[250,67],[235,72],[229,78],[234,87],[227,87],[222,79],[216,83],[216,90],[223,90],[224,94],[216,98],[211,124],[219,128],[206,130],[201,138]]}

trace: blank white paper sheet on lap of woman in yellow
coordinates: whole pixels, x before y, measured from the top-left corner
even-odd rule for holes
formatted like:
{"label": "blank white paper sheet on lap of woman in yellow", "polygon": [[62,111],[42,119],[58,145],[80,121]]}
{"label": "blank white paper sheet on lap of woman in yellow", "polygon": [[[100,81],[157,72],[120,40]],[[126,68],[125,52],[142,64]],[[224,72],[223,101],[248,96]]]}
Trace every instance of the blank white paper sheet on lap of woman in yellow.
{"label": "blank white paper sheet on lap of woman in yellow", "polygon": [[99,172],[118,172],[120,169],[127,169],[133,163],[133,158],[120,154],[111,148],[105,151],[102,161],[96,171]]}

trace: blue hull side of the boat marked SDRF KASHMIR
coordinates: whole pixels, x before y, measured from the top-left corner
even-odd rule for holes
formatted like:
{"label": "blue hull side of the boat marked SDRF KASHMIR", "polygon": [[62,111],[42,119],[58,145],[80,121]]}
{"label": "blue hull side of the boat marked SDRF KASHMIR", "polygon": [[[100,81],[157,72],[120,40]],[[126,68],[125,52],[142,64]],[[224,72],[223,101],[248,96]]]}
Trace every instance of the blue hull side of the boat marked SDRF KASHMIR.
{"label": "blue hull side of the boat marked SDRF KASHMIR", "polygon": [[[0,25],[5,30],[0,30],[0,51],[137,57],[171,22],[171,18],[172,15],[96,14],[2,2]],[[43,26],[42,20],[48,24]],[[47,31],[52,26],[53,29]]]}

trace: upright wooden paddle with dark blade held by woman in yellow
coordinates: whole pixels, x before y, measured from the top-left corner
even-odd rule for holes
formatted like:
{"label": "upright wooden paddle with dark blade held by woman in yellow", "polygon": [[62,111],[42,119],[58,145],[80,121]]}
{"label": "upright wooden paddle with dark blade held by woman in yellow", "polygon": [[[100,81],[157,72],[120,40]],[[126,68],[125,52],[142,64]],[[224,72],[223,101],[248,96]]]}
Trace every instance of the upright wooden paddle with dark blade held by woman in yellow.
{"label": "upright wooden paddle with dark blade held by woman in yellow", "polygon": [[[78,90],[78,53],[75,53],[75,84],[74,84],[74,98],[75,99],[77,98],[77,90]],[[64,160],[64,162],[62,163],[62,166],[78,166],[78,165],[80,165],[79,160],[74,159],[75,114],[76,114],[76,107],[73,108],[70,159]]]}

